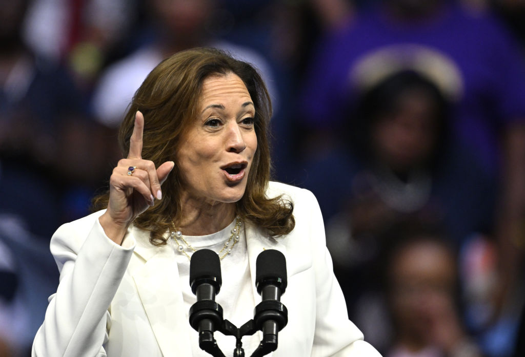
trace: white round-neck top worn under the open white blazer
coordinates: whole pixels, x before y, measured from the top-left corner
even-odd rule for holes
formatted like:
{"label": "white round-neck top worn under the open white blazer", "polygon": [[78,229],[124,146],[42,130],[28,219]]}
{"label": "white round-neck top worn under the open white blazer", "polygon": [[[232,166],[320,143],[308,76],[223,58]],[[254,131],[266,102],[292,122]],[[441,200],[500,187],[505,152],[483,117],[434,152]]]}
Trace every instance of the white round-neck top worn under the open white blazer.
{"label": "white round-neck top worn under the open white blazer", "polygon": [[[183,238],[188,244],[193,246],[195,250],[206,248],[214,252],[219,252],[232,234],[231,231],[234,226],[235,220],[219,232],[201,236],[183,235]],[[244,225],[241,225],[239,241],[232,248],[232,251],[220,261],[223,284],[215,297],[215,301],[223,308],[224,319],[233,322],[236,327],[241,327],[245,322],[253,319],[255,308],[245,237]],[[191,256],[193,251],[188,249],[182,240],[178,240],[178,242],[184,246],[185,252]],[[177,250],[175,240],[171,239],[170,244],[173,246],[176,255],[185,310],[189,311],[190,307],[195,304],[196,301],[196,297],[190,287],[190,260],[186,255]],[[223,254],[224,253],[221,253],[220,256],[223,256]],[[209,357],[208,353],[198,347],[197,331],[191,331],[190,337],[192,355]],[[235,337],[224,336],[220,332],[215,332],[214,337],[215,340],[217,340],[220,350],[222,350],[227,357],[232,356],[235,348]],[[255,333],[253,336],[246,336],[242,342],[245,354],[249,356],[259,345],[259,335]]]}

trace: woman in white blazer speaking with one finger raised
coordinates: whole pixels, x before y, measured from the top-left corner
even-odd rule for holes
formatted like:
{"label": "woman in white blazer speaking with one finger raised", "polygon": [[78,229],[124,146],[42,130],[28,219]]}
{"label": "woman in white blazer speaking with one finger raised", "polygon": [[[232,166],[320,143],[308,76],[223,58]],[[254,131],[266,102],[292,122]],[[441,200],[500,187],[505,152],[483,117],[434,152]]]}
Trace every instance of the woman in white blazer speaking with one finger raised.
{"label": "woman in white blazer speaking with one finger raised", "polygon": [[[33,356],[207,356],[188,323],[188,257],[203,247],[222,259],[216,301],[236,326],[260,299],[257,255],[285,254],[289,322],[274,356],[377,355],[346,318],[316,199],[268,182],[270,113],[256,70],[218,50],[179,52],[149,74],[121,127],[127,158],[97,200],[107,209],[51,240],[60,284]],[[243,340],[246,355],[258,341]]]}

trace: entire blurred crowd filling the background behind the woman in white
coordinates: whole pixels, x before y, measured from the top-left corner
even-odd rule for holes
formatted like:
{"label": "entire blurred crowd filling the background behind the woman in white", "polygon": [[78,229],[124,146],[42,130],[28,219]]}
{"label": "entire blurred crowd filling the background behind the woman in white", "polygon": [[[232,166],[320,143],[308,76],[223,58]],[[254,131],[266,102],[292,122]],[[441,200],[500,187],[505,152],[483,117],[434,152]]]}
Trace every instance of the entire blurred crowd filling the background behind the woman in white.
{"label": "entire blurred crowd filling the background behind the woman in white", "polygon": [[0,357],[30,354],[49,239],[106,189],[135,90],[197,46],[261,71],[274,179],[316,195],[366,340],[525,355],[525,3],[0,0]]}

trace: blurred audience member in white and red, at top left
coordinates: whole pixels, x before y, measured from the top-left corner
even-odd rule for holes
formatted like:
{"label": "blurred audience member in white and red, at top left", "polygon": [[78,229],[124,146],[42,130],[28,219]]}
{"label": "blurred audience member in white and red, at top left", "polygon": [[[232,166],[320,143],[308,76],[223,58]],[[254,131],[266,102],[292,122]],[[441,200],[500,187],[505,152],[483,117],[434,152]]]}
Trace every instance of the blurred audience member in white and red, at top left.
{"label": "blurred audience member in white and red, at top left", "polygon": [[75,81],[90,91],[104,66],[137,47],[145,3],[31,0],[24,38],[35,53],[66,63]]}

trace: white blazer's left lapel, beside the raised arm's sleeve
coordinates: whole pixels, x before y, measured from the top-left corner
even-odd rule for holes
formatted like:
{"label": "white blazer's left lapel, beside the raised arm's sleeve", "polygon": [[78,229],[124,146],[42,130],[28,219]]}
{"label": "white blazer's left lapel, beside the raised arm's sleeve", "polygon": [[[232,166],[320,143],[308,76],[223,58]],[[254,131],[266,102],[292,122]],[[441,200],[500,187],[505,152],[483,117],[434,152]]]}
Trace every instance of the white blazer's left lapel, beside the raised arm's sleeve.
{"label": "white blazer's left lapel, beside the raised arm's sleeve", "polygon": [[155,338],[165,357],[192,354],[188,321],[180,291],[175,253],[170,245],[156,247],[148,235],[132,229],[135,254],[145,263],[131,274]]}

